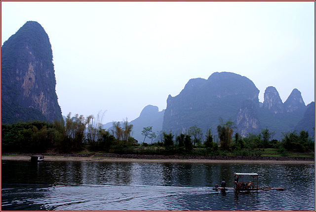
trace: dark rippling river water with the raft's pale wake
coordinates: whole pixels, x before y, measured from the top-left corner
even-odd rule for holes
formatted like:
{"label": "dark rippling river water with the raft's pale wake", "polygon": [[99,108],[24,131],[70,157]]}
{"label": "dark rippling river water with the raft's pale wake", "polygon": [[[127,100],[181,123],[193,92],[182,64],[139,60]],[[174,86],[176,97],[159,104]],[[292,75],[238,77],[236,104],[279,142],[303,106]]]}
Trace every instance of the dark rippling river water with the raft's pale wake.
{"label": "dark rippling river water with the raft's pale wake", "polygon": [[[225,193],[234,172],[285,191]],[[314,165],[2,161],[1,211],[315,211]]]}

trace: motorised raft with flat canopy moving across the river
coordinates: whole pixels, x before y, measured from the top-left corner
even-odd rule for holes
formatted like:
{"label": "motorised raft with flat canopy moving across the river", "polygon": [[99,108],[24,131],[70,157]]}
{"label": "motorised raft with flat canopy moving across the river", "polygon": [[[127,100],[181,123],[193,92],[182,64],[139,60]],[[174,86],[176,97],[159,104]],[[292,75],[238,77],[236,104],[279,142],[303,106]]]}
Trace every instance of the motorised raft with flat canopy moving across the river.
{"label": "motorised raft with flat canopy moving across the river", "polygon": [[[242,181],[239,180],[239,177],[247,178]],[[258,187],[258,174],[257,173],[234,173],[234,187],[233,188],[223,188],[218,187],[217,185],[213,188],[215,191],[226,191],[226,190],[235,190],[235,191],[270,191],[278,190],[283,191],[285,188],[281,187]]]}

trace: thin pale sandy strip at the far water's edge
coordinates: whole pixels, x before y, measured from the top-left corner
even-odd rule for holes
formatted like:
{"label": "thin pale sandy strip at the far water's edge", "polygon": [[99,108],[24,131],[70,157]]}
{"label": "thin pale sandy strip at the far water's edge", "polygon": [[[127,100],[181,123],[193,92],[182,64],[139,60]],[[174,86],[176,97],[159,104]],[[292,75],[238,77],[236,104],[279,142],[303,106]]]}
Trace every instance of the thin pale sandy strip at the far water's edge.
{"label": "thin pale sandy strip at the far water's edge", "polygon": [[[1,156],[1,160],[29,161],[30,156]],[[111,157],[68,157],[45,156],[44,161],[87,161],[87,162],[146,162],[146,163],[234,163],[234,164],[315,164],[315,161],[279,161],[279,160],[208,160],[208,159],[138,159]]]}

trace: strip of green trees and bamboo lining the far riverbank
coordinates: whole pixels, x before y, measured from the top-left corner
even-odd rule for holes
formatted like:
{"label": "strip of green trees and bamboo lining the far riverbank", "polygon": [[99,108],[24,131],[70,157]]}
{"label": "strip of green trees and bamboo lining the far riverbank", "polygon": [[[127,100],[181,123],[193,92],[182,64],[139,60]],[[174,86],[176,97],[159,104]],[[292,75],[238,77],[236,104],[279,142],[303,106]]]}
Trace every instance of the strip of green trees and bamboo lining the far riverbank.
{"label": "strip of green trees and bamboo lining the far riverbank", "polygon": [[[309,152],[315,146],[315,131],[312,136],[304,130],[282,132],[282,138],[276,140],[273,139],[275,132],[265,128],[259,134],[241,137],[234,133],[235,123],[221,120],[215,133],[208,129],[203,134],[197,126],[190,127],[186,133],[153,132],[151,126],[144,127],[144,140],[149,137],[152,143],[138,143],[132,137],[133,126],[127,120],[115,122],[112,129],[106,130],[99,124],[99,117],[95,117],[93,125],[93,118],[78,114],[71,117],[69,113],[65,120],[54,123],[2,124],[2,153],[74,153],[85,149],[114,154],[261,156],[264,149],[274,148],[281,156],[287,156],[290,152]],[[153,143],[155,138],[158,141]]]}

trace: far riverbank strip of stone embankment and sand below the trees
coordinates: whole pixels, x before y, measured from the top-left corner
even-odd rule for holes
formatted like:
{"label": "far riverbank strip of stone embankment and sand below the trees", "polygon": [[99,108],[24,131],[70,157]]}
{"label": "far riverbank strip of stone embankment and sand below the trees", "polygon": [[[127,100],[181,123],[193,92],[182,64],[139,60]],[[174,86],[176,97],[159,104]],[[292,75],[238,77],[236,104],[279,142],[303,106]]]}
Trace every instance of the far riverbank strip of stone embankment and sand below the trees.
{"label": "far riverbank strip of stone embankment and sand below the trees", "polygon": [[[31,154],[1,155],[1,160],[29,161]],[[44,161],[146,162],[146,163],[236,163],[236,164],[315,164],[315,158],[229,157],[229,156],[146,156],[110,154],[44,155]],[[120,156],[120,157],[119,157]],[[214,158],[215,157],[215,158]],[[216,158],[217,157],[217,158]]]}

